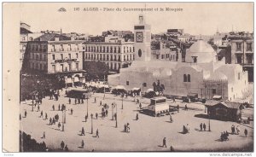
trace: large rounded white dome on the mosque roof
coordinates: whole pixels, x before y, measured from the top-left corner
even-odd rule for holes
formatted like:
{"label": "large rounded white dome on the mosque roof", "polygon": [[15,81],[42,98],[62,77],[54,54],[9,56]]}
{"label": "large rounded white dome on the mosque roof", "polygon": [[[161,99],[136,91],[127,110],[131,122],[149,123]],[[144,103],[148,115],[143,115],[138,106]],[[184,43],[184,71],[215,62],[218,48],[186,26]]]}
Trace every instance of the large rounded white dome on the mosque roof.
{"label": "large rounded white dome on the mosque roof", "polygon": [[196,57],[196,62],[206,63],[216,61],[216,52],[212,49],[210,44],[207,44],[203,40],[198,40],[195,44],[192,44],[186,53],[186,62],[194,62],[193,58]]}

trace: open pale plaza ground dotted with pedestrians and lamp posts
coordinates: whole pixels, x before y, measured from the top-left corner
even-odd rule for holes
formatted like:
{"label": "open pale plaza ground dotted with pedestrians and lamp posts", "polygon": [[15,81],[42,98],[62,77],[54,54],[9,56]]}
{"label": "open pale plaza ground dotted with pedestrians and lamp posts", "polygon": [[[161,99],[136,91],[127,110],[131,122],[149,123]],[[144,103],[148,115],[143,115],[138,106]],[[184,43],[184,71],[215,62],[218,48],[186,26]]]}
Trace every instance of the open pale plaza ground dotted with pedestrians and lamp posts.
{"label": "open pale plaza ground dotted with pedestrians and lamp posts", "polygon": [[[167,103],[173,107],[179,104],[179,113],[173,112],[172,119],[170,116],[153,117],[140,113],[140,108],[137,99],[142,102],[142,108],[147,107],[149,99],[145,97],[122,98],[113,94],[106,94],[103,100],[103,93],[95,93],[88,100],[89,117],[85,122],[87,114],[87,102],[84,104],[75,104],[75,100],[71,99],[71,104],[68,102],[68,97],[65,97],[65,90],[60,93],[58,101],[49,100],[49,96],[43,99],[43,103],[38,111],[38,105],[33,108],[32,101],[20,103],[20,131],[30,134],[31,138],[37,142],[45,142],[47,148],[55,151],[61,151],[61,141],[65,142],[69,151],[170,151],[171,146],[174,151],[253,151],[253,123],[238,124],[231,121],[220,121],[217,119],[208,119],[205,113],[205,106],[201,103],[183,103],[172,102]],[[96,98],[96,102],[95,102]],[[102,118],[102,104],[108,104],[108,116]],[[112,108],[112,103],[116,104],[117,108]],[[123,109],[122,109],[123,103]],[[58,106],[66,105],[65,112],[59,111]],[[184,110],[187,104],[188,110]],[[55,111],[52,106],[55,105]],[[73,109],[73,114],[71,113]],[[26,118],[24,113],[27,113]],[[40,113],[43,111],[43,117]],[[116,120],[113,114],[117,112],[117,127]],[[45,113],[48,119],[45,119]],[[96,119],[96,113],[98,118]],[[138,113],[138,119],[136,115]],[[59,115],[61,127],[58,127],[58,122],[55,125],[49,125],[49,118],[53,118],[55,114]],[[93,118],[91,119],[91,114]],[[242,116],[250,117],[253,115],[253,108],[242,110]],[[64,131],[62,131],[62,122],[66,117]],[[124,125],[130,124],[130,131],[124,131]],[[200,130],[200,124],[207,125],[206,131]],[[209,130],[210,123],[210,130]],[[183,125],[189,125],[189,133],[183,134]],[[231,125],[239,125],[240,134],[229,136],[229,141],[221,142],[220,134],[223,131],[231,133]],[[81,136],[81,130],[84,127],[85,136]],[[247,129],[247,137],[244,135],[244,130]],[[91,133],[91,130],[93,132]],[[96,130],[99,132],[99,137],[96,137]],[[45,138],[43,134],[45,132]],[[163,138],[166,137],[166,147],[163,147]],[[81,147],[81,142],[84,140],[84,148]],[[205,143],[205,144],[202,144]]]}

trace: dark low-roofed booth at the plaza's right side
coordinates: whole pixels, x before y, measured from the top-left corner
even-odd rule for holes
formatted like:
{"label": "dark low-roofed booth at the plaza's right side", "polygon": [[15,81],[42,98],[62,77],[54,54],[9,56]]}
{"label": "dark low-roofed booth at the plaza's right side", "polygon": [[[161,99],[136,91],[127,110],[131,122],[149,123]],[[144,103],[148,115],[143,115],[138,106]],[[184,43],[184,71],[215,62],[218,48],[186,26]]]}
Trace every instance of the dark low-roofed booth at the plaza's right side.
{"label": "dark low-roofed booth at the plaza's right side", "polygon": [[205,105],[207,107],[207,114],[211,118],[231,121],[241,119],[241,103],[207,100]]}

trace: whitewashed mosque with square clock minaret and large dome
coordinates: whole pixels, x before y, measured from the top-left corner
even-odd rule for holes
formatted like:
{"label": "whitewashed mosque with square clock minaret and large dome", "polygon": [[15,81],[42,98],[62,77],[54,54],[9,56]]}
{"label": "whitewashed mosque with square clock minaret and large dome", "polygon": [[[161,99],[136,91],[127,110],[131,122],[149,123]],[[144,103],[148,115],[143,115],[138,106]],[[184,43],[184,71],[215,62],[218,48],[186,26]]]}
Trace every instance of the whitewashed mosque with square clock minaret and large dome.
{"label": "whitewashed mosque with square clock minaret and large dome", "polygon": [[153,89],[153,83],[165,85],[164,94],[171,96],[197,95],[212,99],[221,96],[231,102],[241,99],[247,92],[247,72],[241,65],[218,61],[217,53],[210,44],[198,40],[187,50],[185,61],[178,53],[177,61],[154,61],[151,57],[151,26],[139,15],[134,26],[135,61],[131,67],[108,76],[111,86],[123,85],[126,90]]}

